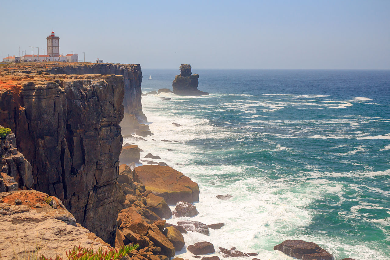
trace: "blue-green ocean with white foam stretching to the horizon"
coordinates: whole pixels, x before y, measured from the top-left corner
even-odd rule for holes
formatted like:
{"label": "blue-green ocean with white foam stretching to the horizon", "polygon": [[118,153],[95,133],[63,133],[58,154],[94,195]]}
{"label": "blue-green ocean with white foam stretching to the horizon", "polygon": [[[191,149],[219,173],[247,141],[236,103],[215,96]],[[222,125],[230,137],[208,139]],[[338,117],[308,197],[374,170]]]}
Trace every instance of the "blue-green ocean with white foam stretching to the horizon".
{"label": "blue-green ocean with white foam stretching to the horizon", "polygon": [[[199,214],[168,223],[225,223],[209,236],[185,234],[186,246],[208,241],[285,260],[293,258],[273,247],[302,239],[336,260],[390,259],[390,71],[192,72],[210,94],[143,96],[154,135],[137,142],[141,158],[159,155],[199,184]],[[172,89],[179,73],[143,69],[143,93]],[[177,256],[195,259],[185,248]]]}

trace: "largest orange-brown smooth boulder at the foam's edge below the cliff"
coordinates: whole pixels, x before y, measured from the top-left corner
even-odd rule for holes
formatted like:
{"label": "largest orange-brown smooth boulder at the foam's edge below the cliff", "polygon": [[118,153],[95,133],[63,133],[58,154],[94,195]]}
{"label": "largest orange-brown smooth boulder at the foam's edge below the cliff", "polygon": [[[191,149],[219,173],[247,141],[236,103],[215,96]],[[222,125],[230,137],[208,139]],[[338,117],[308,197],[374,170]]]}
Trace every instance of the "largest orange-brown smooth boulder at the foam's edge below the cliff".
{"label": "largest orange-brown smooth boulder at the foam's edge below the cliff", "polygon": [[134,169],[134,178],[145,184],[145,188],[153,194],[165,199],[168,204],[177,201],[192,203],[199,200],[199,186],[168,166],[144,165]]}

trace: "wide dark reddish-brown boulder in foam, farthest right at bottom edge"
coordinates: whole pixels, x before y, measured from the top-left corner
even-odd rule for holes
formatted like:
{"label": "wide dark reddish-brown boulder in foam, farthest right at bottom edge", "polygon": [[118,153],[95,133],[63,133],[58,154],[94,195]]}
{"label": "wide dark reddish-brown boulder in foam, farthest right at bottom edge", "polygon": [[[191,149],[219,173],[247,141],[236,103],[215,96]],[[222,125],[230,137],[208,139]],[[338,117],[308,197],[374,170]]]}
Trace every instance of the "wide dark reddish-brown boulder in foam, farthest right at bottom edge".
{"label": "wide dark reddish-brown boulder in foam, farthest right at bottom edge", "polygon": [[333,255],[319,245],[313,242],[306,242],[303,240],[285,240],[273,248],[279,250],[286,255],[302,259],[323,259],[332,260]]}

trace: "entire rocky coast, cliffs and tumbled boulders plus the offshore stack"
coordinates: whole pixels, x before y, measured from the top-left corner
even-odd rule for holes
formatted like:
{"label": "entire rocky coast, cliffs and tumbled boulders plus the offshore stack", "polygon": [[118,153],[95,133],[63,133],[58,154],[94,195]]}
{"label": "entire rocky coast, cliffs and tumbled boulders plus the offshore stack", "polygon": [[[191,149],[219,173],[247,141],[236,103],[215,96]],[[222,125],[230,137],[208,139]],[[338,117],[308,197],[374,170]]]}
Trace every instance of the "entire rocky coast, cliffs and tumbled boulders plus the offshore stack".
{"label": "entire rocky coast, cliffs and tumbled boulders plus the offshore stack", "polygon": [[[182,64],[173,92],[208,94],[197,90],[197,78]],[[186,246],[203,260],[259,260],[252,258],[257,253],[235,247],[218,247],[219,256],[211,256],[217,245],[207,241],[186,245],[183,233],[208,235],[223,223],[166,222],[172,216],[195,217],[200,191],[183,173],[154,162],[158,155],[140,157],[135,142],[153,135],[142,112],[141,82],[139,64],[0,67],[0,125],[10,128],[0,139],[1,259],[31,253],[50,258],[65,256],[73,246],[112,249],[133,243],[139,248],[126,259],[168,260]],[[155,92],[150,94],[168,90]],[[122,146],[123,137],[133,142]],[[140,161],[145,165],[137,167]],[[305,260],[333,259],[302,240],[286,240],[274,249]]]}

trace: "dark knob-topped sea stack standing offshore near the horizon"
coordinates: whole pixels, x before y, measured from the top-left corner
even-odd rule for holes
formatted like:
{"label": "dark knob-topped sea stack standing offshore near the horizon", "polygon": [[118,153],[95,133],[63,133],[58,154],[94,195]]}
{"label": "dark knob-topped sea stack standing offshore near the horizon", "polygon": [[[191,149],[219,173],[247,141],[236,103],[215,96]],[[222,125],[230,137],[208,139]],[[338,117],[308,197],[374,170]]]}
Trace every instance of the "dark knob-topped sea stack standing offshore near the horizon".
{"label": "dark knob-topped sea stack standing offshore near the horizon", "polygon": [[191,65],[181,64],[180,75],[172,82],[173,93],[181,96],[203,96],[209,93],[198,90],[198,74],[191,75]]}

